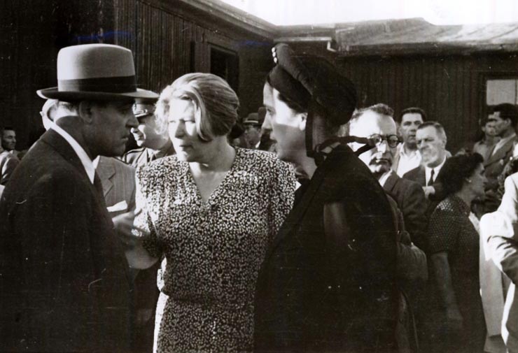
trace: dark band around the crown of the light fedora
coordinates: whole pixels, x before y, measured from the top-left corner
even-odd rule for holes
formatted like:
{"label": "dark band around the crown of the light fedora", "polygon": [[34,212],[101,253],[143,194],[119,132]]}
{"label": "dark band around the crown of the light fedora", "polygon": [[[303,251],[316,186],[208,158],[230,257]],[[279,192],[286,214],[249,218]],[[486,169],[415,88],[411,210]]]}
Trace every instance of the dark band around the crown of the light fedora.
{"label": "dark band around the crown of the light fedora", "polygon": [[134,75],[58,80],[57,89],[59,92],[127,93],[137,92],[137,81]]}

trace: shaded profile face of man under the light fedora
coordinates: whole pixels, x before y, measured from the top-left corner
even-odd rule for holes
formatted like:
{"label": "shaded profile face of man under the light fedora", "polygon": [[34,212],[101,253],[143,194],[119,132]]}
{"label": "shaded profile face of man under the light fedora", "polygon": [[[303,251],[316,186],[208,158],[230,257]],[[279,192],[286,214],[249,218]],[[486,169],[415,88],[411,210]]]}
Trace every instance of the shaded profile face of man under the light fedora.
{"label": "shaded profile face of man under the light fedora", "polygon": [[132,101],[92,103],[92,138],[97,154],[115,157],[124,153],[130,129],[138,124],[132,106]]}

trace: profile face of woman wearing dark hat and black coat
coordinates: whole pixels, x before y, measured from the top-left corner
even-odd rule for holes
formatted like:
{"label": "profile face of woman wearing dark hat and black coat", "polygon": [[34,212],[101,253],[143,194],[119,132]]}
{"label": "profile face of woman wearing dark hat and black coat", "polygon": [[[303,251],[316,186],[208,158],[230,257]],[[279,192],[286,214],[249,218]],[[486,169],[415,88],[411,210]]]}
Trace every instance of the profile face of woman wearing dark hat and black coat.
{"label": "profile face of woman wearing dark hat and black coat", "polygon": [[297,155],[305,154],[305,116],[297,113],[279,99],[279,92],[265,83],[262,103],[266,108],[265,121],[272,124],[270,137],[276,141],[277,157],[283,161],[297,162]]}

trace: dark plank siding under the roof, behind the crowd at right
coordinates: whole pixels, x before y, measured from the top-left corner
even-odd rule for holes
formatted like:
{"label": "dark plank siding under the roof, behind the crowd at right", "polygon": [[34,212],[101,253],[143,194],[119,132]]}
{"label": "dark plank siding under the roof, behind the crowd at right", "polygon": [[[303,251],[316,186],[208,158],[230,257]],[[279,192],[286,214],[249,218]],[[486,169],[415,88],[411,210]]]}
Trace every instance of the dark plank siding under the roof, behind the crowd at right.
{"label": "dark plank siding under the roof, behind the crowd at right", "polygon": [[423,108],[429,120],[444,125],[448,149],[455,152],[475,138],[484,115],[484,78],[518,75],[518,57],[469,55],[448,57],[335,57],[335,64],[355,82],[360,106],[387,103],[396,115],[409,106]]}

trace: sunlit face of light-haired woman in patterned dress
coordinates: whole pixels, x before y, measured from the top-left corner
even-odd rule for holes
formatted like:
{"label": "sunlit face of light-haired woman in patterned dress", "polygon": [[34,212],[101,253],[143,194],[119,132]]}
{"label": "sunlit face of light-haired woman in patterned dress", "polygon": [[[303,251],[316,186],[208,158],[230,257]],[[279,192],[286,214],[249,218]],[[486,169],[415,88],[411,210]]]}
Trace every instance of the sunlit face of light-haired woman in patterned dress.
{"label": "sunlit face of light-haired woman in patterned dress", "polygon": [[209,143],[198,136],[193,102],[175,98],[169,107],[169,138],[178,158],[182,161],[201,161]]}

